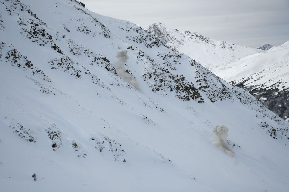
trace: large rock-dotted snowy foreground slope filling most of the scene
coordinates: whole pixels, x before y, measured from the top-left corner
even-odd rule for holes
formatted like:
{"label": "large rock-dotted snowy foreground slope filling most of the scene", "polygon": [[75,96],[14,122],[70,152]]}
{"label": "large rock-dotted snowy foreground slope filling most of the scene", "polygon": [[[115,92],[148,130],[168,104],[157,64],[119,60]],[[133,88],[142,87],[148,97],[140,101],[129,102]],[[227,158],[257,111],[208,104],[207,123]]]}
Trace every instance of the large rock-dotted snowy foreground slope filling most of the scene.
{"label": "large rock-dotted snowy foreground slope filling most of the scene", "polygon": [[1,191],[288,189],[289,124],[151,33],[71,0],[0,16]]}

